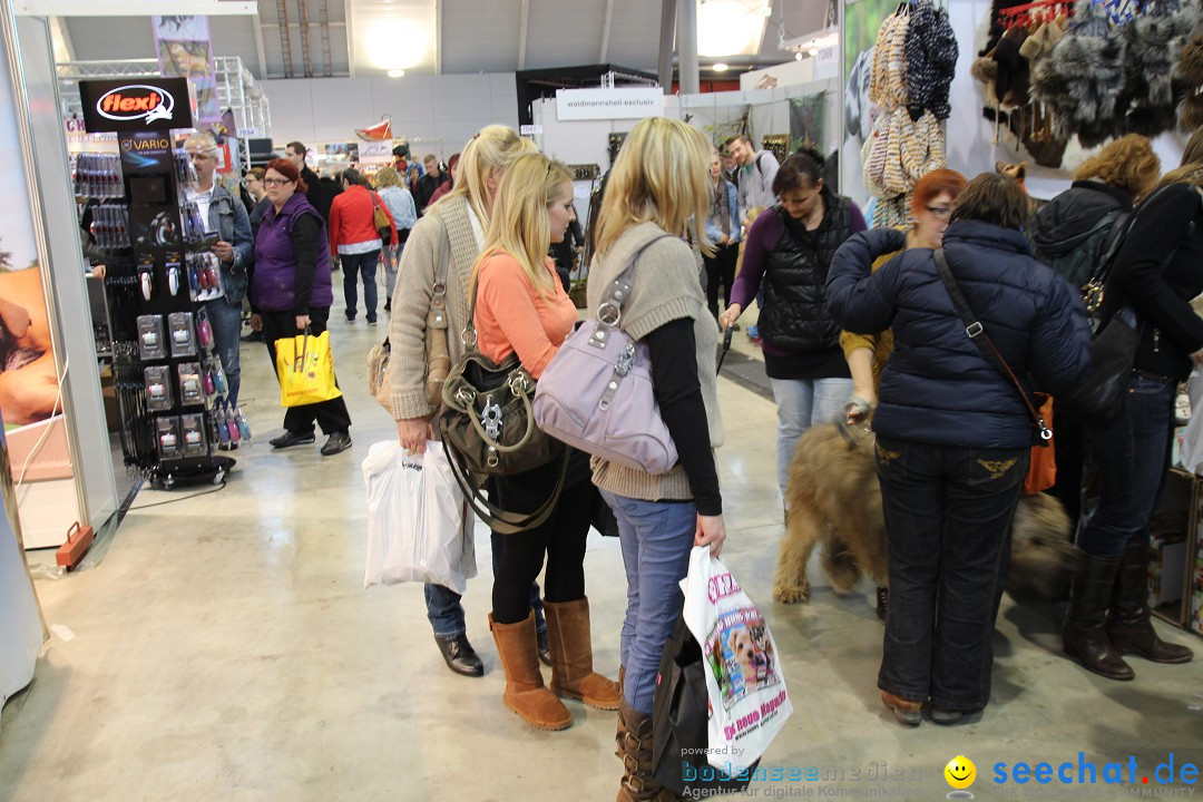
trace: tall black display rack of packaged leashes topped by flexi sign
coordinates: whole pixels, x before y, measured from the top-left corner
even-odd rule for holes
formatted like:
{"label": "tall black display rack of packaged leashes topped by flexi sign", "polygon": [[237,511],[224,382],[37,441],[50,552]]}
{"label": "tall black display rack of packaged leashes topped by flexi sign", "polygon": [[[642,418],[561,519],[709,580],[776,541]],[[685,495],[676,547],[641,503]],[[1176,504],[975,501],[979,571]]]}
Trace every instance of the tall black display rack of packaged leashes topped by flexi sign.
{"label": "tall black display rack of packaged leashes topped by flexi sign", "polygon": [[221,295],[215,242],[186,190],[191,159],[172,130],[190,129],[183,78],[79,84],[89,132],[115,131],[119,156],[76,162],[83,225],[107,267],[114,388],[125,464],[154,486],[221,483],[214,453],[249,432],[226,399],[203,303]]}

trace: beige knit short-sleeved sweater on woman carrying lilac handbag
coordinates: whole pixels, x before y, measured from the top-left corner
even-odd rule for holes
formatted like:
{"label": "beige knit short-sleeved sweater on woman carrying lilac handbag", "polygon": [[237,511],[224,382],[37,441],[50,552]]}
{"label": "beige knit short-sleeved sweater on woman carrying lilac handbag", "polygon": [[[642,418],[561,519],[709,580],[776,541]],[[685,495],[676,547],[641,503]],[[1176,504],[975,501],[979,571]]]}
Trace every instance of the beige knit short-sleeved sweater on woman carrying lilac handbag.
{"label": "beige knit short-sleeved sweater on woman carrying lilac handbag", "polygon": [[[652,222],[635,226],[623,233],[603,256],[589,267],[589,315],[597,314],[605,289],[627,269],[635,253],[664,231]],[[664,323],[682,317],[693,320],[697,341],[698,382],[706,406],[710,444],[723,444],[723,421],[718,414],[718,384],[715,360],[718,331],[715,319],[706,311],[706,297],[698,283],[698,263],[689,245],[680,239],[662,239],[650,245],[639,259],[639,271],[632,281],[630,296],[622,307],[621,327],[630,337],[645,338]],[[653,476],[642,470],[618,465],[594,457],[593,483],[604,491],[630,499],[692,499],[689,477],[680,464],[668,474]]]}

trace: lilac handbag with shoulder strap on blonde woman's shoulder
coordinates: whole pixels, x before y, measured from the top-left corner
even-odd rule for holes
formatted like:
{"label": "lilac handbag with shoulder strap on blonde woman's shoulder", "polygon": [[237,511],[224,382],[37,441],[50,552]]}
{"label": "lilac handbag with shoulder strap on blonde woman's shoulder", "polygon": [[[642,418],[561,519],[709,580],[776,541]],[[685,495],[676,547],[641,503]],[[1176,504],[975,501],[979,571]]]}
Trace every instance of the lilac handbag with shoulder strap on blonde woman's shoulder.
{"label": "lilac handbag with shoulder strap on blonde woman's shoulder", "polygon": [[539,428],[595,457],[648,474],[677,463],[676,445],[660,417],[652,388],[647,345],[618,327],[622,304],[639,256],[610,286],[597,320],[585,321],[564,340],[539,378],[534,420]]}

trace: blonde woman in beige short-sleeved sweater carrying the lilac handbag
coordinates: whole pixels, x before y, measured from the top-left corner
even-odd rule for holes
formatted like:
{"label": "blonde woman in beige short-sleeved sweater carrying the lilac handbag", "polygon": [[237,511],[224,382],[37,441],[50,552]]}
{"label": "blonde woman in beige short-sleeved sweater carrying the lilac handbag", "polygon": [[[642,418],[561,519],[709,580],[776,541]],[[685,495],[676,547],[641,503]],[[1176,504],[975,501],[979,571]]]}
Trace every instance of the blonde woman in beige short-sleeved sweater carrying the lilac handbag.
{"label": "blonde woman in beige short-sleeved sweater carrying the lilac handbag", "polygon": [[[682,240],[711,208],[706,177],[710,143],[678,120],[651,118],[627,137],[610,172],[589,269],[594,315],[614,281],[636,259],[620,326],[647,344],[660,415],[680,462],[652,475],[593,461],[593,483],[618,521],[627,571],[622,625],[623,696],[618,756],[620,800],[675,798],[652,780],[652,695],[664,644],[681,610],[680,581],[693,546],[715,554],[727,537],[713,448],[722,445],[715,357],[718,332],[698,281],[693,251]],[[699,237],[704,251],[712,249]]]}

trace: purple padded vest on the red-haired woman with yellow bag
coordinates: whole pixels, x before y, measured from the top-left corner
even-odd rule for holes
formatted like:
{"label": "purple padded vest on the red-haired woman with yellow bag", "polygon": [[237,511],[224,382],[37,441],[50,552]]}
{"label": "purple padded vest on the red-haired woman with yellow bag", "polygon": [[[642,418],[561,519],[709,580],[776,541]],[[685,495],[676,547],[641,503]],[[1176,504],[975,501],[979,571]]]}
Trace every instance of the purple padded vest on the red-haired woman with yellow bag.
{"label": "purple padded vest on the red-haired woman with yellow bag", "polygon": [[320,308],[334,302],[330,280],[326,222],[304,195],[294,192],[279,212],[275,207],[268,206],[259,224],[259,233],[255,237],[255,275],[251,285],[255,307],[259,309],[265,311],[296,309],[300,277],[296,255],[292,253],[292,221],[304,214],[312,214],[321,225],[314,243],[316,265],[308,305]]}

